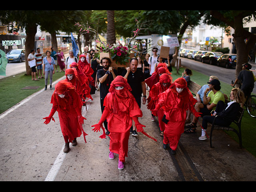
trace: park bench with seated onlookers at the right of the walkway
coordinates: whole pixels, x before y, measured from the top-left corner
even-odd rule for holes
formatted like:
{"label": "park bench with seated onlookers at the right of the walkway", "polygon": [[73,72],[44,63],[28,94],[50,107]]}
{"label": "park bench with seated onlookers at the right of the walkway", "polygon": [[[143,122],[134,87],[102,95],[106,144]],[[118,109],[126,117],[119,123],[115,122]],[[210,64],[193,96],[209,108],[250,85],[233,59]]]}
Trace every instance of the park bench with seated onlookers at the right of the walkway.
{"label": "park bench with seated onlookers at the right of the walkway", "polygon": [[[202,86],[200,86],[199,84],[197,84],[196,82],[190,81],[188,82],[188,88],[190,90],[190,92],[196,96],[196,93],[200,90]],[[229,100],[225,99],[225,103],[230,102]],[[211,128],[211,133],[210,133],[210,147],[214,148],[212,146],[212,132],[213,130],[227,130],[227,131],[233,131],[237,134],[238,139],[239,139],[239,146],[240,148],[242,148],[242,135],[241,135],[241,121],[242,121],[242,116],[244,114],[244,109],[240,108],[238,116],[236,116],[235,120],[232,121],[232,127],[231,126],[218,126],[215,124],[215,119],[212,122],[212,128]],[[235,125],[234,125],[235,124]],[[237,126],[238,130],[236,130],[235,128],[233,128],[233,126]]]}

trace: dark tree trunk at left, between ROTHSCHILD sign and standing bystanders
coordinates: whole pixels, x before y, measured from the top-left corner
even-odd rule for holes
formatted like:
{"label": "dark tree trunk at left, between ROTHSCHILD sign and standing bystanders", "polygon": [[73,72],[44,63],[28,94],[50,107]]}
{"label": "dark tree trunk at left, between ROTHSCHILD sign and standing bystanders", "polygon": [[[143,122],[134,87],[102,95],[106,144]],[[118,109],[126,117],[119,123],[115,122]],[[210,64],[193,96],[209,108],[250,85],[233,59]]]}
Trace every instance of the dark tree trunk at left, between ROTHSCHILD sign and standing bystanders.
{"label": "dark tree trunk at left, between ROTHSCHILD sign and standing bystanders", "polygon": [[26,26],[25,29],[26,29],[26,42],[25,42],[26,74],[31,75],[31,68],[28,65],[28,55],[30,54],[31,50],[34,49],[37,25],[36,24],[28,24],[28,26]]}

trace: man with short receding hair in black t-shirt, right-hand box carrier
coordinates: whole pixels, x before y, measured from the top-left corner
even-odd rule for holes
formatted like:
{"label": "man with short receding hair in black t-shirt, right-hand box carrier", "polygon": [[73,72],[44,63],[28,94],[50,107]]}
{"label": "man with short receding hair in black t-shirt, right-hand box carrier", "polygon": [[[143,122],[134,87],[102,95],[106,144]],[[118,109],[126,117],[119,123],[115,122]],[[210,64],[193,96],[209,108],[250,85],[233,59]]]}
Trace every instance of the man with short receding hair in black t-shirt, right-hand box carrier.
{"label": "man with short receding hair in black t-shirt, right-hand box carrier", "polygon": [[[130,67],[127,67],[122,72],[122,76],[127,79],[128,84],[132,88],[132,95],[136,99],[139,107],[141,107],[141,96],[143,94],[142,98],[142,104],[146,104],[146,84],[145,84],[145,78],[144,73],[141,70],[137,70],[138,67],[138,59],[137,58],[131,58],[130,60]],[[130,133],[132,133],[133,136],[138,136],[136,128],[133,126],[130,129]]]}

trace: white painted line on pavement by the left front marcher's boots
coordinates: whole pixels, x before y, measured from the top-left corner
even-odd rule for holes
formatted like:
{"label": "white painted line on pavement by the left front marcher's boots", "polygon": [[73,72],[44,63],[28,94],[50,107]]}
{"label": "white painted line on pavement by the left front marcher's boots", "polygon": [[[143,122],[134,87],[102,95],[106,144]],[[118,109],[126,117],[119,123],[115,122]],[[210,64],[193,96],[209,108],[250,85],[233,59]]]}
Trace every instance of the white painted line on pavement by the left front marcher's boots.
{"label": "white painted line on pavement by the left front marcher's boots", "polygon": [[[90,106],[90,102],[86,103],[87,110],[88,110],[89,106]],[[85,114],[87,112],[86,107],[84,107],[84,109],[82,110],[82,116],[85,116]],[[70,146],[71,145],[72,145],[72,143],[70,143]],[[55,177],[57,176],[57,174],[60,170],[60,167],[61,167],[62,163],[64,162],[64,159],[67,154],[67,153],[63,152],[64,147],[65,147],[65,145],[60,150],[59,155],[57,156],[50,172],[48,173],[48,175],[46,176],[46,179],[44,181],[54,181]]]}

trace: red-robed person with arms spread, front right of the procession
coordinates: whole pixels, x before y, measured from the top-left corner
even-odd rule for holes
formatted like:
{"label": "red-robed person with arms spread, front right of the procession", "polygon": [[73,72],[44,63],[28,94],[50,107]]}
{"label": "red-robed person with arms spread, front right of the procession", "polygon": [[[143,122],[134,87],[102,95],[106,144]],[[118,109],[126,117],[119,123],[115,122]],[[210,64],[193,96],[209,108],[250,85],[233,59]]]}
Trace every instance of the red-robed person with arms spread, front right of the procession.
{"label": "red-robed person with arms spread, front right of the procession", "polygon": [[167,144],[170,144],[172,154],[176,154],[180,136],[184,132],[186,110],[190,109],[196,117],[199,117],[202,113],[196,112],[194,104],[197,101],[193,98],[184,78],[176,79],[170,88],[158,97],[159,102],[152,112],[157,114],[159,109],[164,110],[163,122],[165,122],[165,130],[163,147],[166,149]]}

